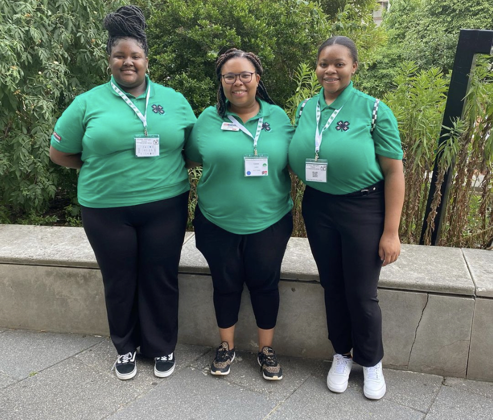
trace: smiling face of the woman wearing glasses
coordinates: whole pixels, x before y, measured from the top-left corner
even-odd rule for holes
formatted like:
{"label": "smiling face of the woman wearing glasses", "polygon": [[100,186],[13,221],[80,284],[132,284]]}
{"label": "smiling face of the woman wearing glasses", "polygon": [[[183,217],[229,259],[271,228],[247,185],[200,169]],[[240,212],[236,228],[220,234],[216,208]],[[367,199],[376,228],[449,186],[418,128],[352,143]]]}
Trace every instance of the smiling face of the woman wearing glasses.
{"label": "smiling face of the woman wearing glasses", "polygon": [[[221,75],[226,73],[239,74],[244,71],[255,73],[255,67],[252,62],[244,57],[234,57],[226,61],[221,68]],[[248,83],[244,83],[240,80],[240,77],[236,77],[236,81],[233,84],[227,84],[224,82],[224,78],[221,77],[222,89],[226,99],[230,101],[230,109],[233,112],[239,110],[248,110],[256,106],[256,93],[260,76],[253,74],[252,80]]]}

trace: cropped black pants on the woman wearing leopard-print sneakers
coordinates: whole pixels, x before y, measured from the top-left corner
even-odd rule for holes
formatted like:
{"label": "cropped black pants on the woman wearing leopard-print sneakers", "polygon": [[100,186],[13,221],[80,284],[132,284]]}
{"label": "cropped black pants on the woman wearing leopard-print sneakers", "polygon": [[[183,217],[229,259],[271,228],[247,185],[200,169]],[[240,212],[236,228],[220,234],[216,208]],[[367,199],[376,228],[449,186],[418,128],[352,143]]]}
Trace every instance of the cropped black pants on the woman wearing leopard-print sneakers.
{"label": "cropped black pants on the woman wearing leopard-print sneakers", "polygon": [[211,270],[218,327],[230,328],[238,322],[246,283],[257,327],[274,328],[281,263],[293,230],[291,212],[261,232],[237,235],[208,221],[197,206],[194,227],[197,249]]}

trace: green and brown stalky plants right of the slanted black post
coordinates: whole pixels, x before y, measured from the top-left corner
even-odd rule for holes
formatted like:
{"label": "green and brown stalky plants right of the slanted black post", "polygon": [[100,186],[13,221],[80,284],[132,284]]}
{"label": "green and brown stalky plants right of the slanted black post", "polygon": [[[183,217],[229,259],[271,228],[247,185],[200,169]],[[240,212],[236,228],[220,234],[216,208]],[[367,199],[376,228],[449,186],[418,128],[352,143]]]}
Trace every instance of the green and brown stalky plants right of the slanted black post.
{"label": "green and brown stalky plants right of the slanted black post", "polygon": [[441,239],[444,245],[484,248],[493,240],[492,61],[491,56],[478,60],[464,118],[454,127],[459,131],[457,140],[448,141],[444,149],[444,167],[452,167],[453,177]]}

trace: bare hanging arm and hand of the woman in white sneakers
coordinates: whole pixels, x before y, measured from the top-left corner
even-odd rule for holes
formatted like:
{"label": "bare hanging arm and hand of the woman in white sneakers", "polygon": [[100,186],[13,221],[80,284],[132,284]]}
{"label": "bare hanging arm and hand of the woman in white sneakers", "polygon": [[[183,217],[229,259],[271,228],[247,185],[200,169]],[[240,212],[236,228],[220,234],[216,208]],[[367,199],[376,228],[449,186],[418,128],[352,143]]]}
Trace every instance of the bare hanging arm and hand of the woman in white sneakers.
{"label": "bare hanging arm and hand of the woman in white sneakers", "polygon": [[401,254],[399,224],[404,204],[404,170],[402,160],[378,156],[385,178],[385,222],[378,255],[382,266],[394,262]]}

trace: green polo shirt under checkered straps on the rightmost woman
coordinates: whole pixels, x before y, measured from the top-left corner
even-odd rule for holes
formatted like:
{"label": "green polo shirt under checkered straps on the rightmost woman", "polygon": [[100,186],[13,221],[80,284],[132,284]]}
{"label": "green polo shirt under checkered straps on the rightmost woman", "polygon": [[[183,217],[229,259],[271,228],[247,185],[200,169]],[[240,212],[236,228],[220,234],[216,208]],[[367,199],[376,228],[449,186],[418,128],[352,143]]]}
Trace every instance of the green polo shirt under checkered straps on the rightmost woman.
{"label": "green polo shirt under checkered straps on the rightmost woman", "polygon": [[[319,159],[327,159],[327,182],[306,181],[306,159],[315,158],[316,106],[320,102],[319,129],[335,109],[340,109],[329,128],[324,131]],[[384,179],[377,156],[402,159],[397,121],[383,102],[378,107],[376,126],[370,133],[375,98],[353,88],[352,82],[337,99],[327,105],[322,88],[318,96],[306,103],[299,117],[296,132],[289,146],[289,164],[307,185],[324,193],[340,195],[355,192]]]}

